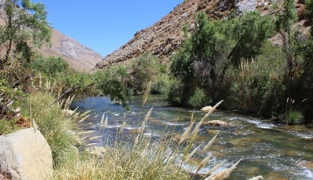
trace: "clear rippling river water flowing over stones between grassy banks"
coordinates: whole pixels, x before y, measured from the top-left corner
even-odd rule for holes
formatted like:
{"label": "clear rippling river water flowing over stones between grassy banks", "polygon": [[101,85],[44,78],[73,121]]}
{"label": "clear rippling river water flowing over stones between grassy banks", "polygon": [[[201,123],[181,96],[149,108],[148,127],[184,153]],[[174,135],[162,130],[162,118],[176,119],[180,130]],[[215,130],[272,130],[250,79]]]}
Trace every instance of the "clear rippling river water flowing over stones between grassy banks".
{"label": "clear rippling river water flowing over stones between grassy banks", "polygon": [[[90,118],[83,125],[85,130],[95,130],[92,136],[110,134],[112,129],[123,123],[124,113],[126,129],[134,129],[140,124],[139,116],[142,119],[153,107],[151,121],[147,123],[147,134],[153,138],[159,138],[165,127],[175,127],[175,132],[182,134],[194,110],[169,106],[161,96],[149,96],[142,109],[141,103],[142,96],[136,96],[130,104],[131,111],[126,111],[108,97],[92,97],[75,101],[71,107],[80,106],[78,110],[82,112],[92,110]],[[103,113],[105,117],[108,116],[108,127],[111,127],[106,132],[99,129]],[[196,110],[196,121],[203,116],[204,113]],[[228,126],[201,126],[196,145],[208,142],[217,132],[220,134],[210,148],[209,153],[212,153],[213,158],[201,173],[206,173],[224,160],[226,163],[219,170],[243,158],[232,172],[231,180],[246,180],[258,175],[262,175],[265,180],[313,180],[313,125],[285,126],[229,111],[215,111],[208,120],[223,120]],[[94,142],[101,145],[107,137]]]}

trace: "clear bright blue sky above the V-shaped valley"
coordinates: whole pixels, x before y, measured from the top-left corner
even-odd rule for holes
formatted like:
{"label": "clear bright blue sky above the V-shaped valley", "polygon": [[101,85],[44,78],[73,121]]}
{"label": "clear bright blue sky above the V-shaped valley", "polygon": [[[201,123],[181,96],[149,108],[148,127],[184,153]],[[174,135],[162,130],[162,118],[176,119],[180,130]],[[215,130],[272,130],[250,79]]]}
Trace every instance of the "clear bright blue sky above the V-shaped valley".
{"label": "clear bright blue sky above the V-shaped valley", "polygon": [[183,0],[32,0],[42,2],[48,21],[102,56],[166,16]]}

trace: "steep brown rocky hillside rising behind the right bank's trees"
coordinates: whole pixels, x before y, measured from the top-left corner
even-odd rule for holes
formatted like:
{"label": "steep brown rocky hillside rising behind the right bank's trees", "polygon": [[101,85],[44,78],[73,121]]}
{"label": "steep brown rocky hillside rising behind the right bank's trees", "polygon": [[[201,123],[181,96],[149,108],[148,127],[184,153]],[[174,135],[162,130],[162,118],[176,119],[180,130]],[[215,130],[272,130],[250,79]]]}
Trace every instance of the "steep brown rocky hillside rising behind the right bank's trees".
{"label": "steep brown rocky hillside rising behind the right bank's trees", "polygon": [[[276,2],[279,10],[282,0]],[[194,15],[197,12],[204,11],[209,17],[217,19],[251,10],[260,10],[263,15],[274,14],[272,6],[272,0],[184,0],[154,25],[136,32],[132,40],[105,57],[96,65],[96,69],[109,64],[127,63],[145,51],[152,52],[162,63],[168,62],[183,41],[183,27],[187,25],[188,31],[195,27]],[[297,3],[295,8],[300,12],[304,5]],[[299,25],[303,26],[303,22],[299,22]]]}

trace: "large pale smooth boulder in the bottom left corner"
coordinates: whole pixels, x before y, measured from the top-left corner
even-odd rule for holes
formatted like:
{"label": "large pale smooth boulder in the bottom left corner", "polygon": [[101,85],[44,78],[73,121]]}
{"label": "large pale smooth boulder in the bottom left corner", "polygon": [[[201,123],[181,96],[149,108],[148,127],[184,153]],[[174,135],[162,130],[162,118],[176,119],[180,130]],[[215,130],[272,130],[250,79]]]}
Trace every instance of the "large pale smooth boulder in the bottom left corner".
{"label": "large pale smooth boulder in the bottom left corner", "polygon": [[11,180],[46,180],[52,171],[51,149],[39,130],[0,136],[0,172]]}

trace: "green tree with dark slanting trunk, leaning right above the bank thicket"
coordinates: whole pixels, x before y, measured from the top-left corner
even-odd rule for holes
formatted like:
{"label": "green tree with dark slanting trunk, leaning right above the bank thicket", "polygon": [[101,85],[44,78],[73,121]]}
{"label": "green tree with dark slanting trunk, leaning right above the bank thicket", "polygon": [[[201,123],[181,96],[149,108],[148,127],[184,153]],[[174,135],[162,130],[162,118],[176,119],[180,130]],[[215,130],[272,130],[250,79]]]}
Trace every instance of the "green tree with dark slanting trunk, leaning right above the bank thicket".
{"label": "green tree with dark slanting trunk, leaning right above the bank thicket", "polygon": [[226,36],[233,41],[233,45],[225,61],[222,81],[230,61],[237,67],[242,58],[251,59],[262,52],[263,44],[272,33],[273,26],[270,17],[252,11],[230,20],[226,29]]}

